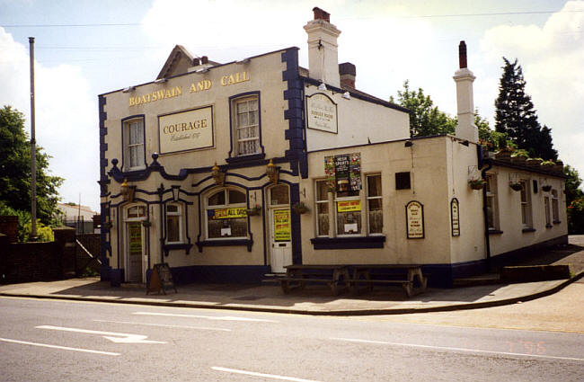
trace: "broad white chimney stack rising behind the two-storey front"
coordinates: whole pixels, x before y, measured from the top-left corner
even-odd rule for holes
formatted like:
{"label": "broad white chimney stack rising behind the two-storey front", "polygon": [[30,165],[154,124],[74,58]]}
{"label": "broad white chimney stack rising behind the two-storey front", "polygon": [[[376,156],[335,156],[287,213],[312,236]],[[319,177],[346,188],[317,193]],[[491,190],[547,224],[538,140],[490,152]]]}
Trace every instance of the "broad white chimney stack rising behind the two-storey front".
{"label": "broad white chimney stack rising behind the two-storey front", "polygon": [[304,27],[308,34],[308,76],[340,87],[337,38],[341,31],[332,25],[329,13],[318,7],[313,12],[314,20]]}

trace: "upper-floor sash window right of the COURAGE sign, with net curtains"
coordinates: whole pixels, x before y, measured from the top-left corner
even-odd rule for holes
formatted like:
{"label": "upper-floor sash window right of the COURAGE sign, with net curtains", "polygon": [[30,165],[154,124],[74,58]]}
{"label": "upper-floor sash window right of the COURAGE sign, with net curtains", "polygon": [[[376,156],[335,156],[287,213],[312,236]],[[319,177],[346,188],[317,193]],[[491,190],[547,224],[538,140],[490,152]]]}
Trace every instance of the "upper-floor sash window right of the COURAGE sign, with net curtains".
{"label": "upper-floor sash window right of the COURAGE sign, with net curtains", "polygon": [[260,153],[260,111],[258,96],[237,98],[234,110],[234,151],[235,155]]}

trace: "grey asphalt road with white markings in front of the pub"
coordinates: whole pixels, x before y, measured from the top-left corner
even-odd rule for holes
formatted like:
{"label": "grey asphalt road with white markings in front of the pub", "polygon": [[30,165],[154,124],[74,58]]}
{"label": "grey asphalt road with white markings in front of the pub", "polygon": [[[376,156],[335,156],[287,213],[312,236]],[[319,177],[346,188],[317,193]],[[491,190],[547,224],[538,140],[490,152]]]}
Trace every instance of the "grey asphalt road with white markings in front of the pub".
{"label": "grey asphalt road with white markings in front of the pub", "polygon": [[1,381],[581,381],[584,334],[0,298]]}

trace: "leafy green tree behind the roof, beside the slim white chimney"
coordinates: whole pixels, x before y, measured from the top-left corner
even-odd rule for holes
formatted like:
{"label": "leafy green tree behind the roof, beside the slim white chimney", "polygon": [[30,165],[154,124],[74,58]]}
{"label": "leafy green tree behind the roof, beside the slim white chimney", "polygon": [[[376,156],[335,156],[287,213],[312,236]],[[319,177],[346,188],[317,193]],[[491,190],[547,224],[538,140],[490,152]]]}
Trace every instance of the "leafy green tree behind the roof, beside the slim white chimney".
{"label": "leafy green tree behind the roof, beside the slim white chimney", "polygon": [[389,102],[397,103],[411,111],[411,138],[454,134],[455,132],[456,119],[439,111],[438,106],[434,106],[429,95],[424,95],[421,88],[418,88],[417,91],[411,90],[408,80],[403,82],[403,91],[397,91],[397,102],[393,96],[389,98]]}

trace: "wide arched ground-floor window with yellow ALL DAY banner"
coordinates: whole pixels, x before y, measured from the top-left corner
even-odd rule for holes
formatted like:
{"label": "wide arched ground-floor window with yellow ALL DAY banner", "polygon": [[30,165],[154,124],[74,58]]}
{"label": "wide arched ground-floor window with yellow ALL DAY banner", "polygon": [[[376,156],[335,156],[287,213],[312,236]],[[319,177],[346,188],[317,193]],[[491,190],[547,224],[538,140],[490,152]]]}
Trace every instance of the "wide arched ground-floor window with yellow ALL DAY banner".
{"label": "wide arched ground-floor window with yellow ALL DAY banner", "polygon": [[247,196],[230,188],[211,191],[205,198],[207,238],[247,238]]}

